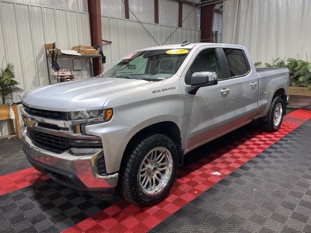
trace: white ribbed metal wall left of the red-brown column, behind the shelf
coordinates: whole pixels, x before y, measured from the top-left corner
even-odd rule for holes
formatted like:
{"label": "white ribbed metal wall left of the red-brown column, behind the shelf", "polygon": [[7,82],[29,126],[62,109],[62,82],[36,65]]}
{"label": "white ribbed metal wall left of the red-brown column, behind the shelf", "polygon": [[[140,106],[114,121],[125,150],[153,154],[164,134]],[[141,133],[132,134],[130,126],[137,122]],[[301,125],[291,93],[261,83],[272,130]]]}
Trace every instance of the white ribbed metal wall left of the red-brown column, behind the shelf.
{"label": "white ribbed metal wall left of the red-brown column, behind the shelf", "polygon": [[[15,65],[25,91],[49,84],[44,44],[54,41],[61,49],[90,45],[87,0],[0,0],[0,60]],[[71,60],[58,61],[72,70]],[[90,64],[74,74],[89,77]],[[13,98],[19,101],[16,94]],[[8,122],[0,121],[0,136],[9,133]]]}

